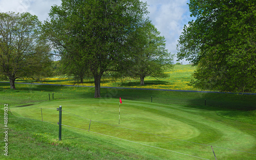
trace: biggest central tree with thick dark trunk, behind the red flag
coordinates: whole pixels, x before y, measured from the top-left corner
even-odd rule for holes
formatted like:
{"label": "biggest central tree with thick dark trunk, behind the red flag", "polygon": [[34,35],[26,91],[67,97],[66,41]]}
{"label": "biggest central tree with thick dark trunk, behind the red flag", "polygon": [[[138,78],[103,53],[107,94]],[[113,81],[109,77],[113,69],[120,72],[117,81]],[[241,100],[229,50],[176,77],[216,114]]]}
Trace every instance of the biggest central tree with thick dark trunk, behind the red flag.
{"label": "biggest central tree with thick dark trunk, behind the red flag", "polygon": [[61,6],[52,7],[45,33],[56,49],[86,63],[94,77],[95,98],[100,97],[103,73],[121,64],[126,39],[143,20],[145,6],[139,0],[62,0]]}

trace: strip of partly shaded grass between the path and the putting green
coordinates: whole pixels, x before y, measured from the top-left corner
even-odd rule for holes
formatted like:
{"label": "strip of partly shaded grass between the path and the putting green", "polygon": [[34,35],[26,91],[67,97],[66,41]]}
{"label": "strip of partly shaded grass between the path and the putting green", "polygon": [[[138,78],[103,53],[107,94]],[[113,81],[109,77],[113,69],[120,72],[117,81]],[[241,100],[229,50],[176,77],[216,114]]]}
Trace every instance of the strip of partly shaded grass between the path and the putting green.
{"label": "strip of partly shaded grass between the path and the putting green", "polygon": [[[50,100],[52,100],[52,96],[54,96],[54,100],[82,99],[94,97],[93,87],[70,87],[17,83],[16,88],[17,90],[9,89],[8,83],[0,83],[0,104],[3,105],[4,103],[9,103],[11,105],[22,105],[41,101],[49,101],[49,94]],[[188,107],[198,107],[206,109],[256,109],[255,95],[101,88],[101,97],[122,97],[128,100],[143,102],[151,102],[152,100],[155,103],[186,105]]]}

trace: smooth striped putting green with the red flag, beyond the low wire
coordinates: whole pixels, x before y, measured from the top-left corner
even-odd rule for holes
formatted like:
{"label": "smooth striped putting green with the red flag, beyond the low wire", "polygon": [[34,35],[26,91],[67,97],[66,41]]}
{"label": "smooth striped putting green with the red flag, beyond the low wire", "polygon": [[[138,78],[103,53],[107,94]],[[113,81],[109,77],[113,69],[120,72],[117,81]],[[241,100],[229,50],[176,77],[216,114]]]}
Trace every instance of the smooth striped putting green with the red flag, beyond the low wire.
{"label": "smooth striped putting green with the red flag, beyond the low wire", "polygon": [[[88,130],[92,120],[90,131],[206,159],[215,158],[210,146],[214,147],[218,159],[256,157],[253,154],[256,153],[254,125],[222,118],[212,110],[122,101],[120,124],[118,99],[49,101],[26,107],[12,107],[11,111],[19,117],[41,120],[42,108],[43,120],[57,123],[56,108],[61,105],[64,125]],[[148,152],[165,158],[165,154],[169,154],[154,148],[148,149]],[[198,159],[188,157],[194,158]]]}

